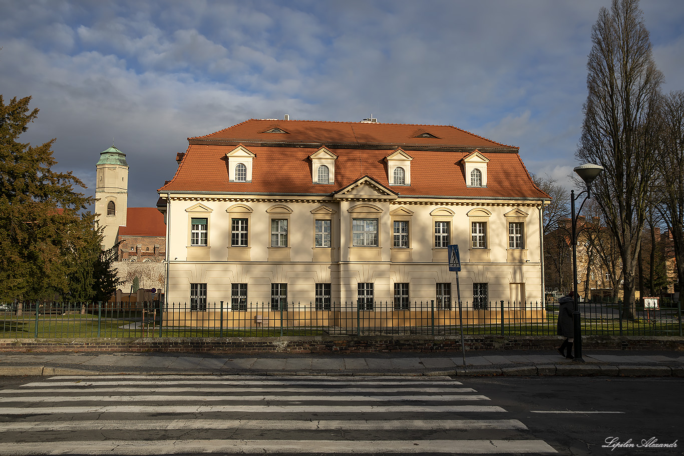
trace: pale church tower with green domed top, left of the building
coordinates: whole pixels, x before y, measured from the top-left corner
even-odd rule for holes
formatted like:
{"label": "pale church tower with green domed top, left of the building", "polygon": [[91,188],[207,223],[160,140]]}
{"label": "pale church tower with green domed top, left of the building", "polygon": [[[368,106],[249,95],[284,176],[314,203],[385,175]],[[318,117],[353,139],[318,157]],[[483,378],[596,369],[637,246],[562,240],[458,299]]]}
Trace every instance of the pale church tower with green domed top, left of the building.
{"label": "pale church tower with green domed top, left of the building", "polygon": [[113,145],[100,152],[95,186],[95,213],[104,228],[102,248],[116,243],[119,226],[126,225],[128,209],[128,163],[126,154]]}

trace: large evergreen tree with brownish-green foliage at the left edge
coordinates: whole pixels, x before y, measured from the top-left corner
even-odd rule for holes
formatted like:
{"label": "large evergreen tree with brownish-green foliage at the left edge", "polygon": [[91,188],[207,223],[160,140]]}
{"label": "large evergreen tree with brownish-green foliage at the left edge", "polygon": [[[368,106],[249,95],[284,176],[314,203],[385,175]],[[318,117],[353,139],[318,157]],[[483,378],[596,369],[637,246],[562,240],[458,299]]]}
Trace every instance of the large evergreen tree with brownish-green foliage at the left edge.
{"label": "large evergreen tree with brownish-green foliage at the left edge", "polygon": [[0,95],[0,299],[86,299],[93,295],[93,265],[100,235],[92,198],[71,172],[52,170],[55,139],[19,142],[38,115],[30,96]]}

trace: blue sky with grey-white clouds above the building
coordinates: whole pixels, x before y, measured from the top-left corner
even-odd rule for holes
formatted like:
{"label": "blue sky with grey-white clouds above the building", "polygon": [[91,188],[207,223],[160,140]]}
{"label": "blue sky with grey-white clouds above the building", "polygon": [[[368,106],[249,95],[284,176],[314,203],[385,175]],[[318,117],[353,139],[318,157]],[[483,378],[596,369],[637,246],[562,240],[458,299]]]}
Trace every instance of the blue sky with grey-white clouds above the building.
{"label": "blue sky with grey-white clouds above the building", "polygon": [[[453,125],[572,173],[591,27],[609,0],[0,0],[0,93],[31,95],[94,192],[112,142],[153,206],[187,137],[250,118]],[[684,1],[642,0],[663,91],[684,90]]]}

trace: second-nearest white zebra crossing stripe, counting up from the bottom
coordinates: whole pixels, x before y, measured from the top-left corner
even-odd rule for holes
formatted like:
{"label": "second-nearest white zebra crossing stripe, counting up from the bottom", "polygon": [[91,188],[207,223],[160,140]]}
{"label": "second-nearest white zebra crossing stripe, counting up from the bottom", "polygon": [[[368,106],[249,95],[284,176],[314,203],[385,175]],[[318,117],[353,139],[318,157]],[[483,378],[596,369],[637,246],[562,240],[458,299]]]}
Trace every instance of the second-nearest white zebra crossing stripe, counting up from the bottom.
{"label": "second-nearest white zebra crossing stripe, counting up from the bottom", "polygon": [[[519,420],[278,420],[281,431],[393,431],[458,429],[527,429]],[[273,429],[274,420],[91,420],[2,423],[4,432],[18,431],[149,431],[184,429]]]}

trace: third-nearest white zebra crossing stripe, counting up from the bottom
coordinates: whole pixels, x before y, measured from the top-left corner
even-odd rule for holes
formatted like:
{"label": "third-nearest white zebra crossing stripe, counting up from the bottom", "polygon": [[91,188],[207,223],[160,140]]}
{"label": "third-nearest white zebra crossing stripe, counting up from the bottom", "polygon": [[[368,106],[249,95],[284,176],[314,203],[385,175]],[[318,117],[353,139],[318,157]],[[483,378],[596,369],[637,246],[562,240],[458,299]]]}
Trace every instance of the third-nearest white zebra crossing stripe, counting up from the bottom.
{"label": "third-nearest white zebra crossing stripe, counting up from the bottom", "polygon": [[209,413],[209,412],[312,412],[312,413],[421,413],[505,412],[497,405],[81,405],[75,407],[3,407],[0,415],[51,415],[75,413]]}

